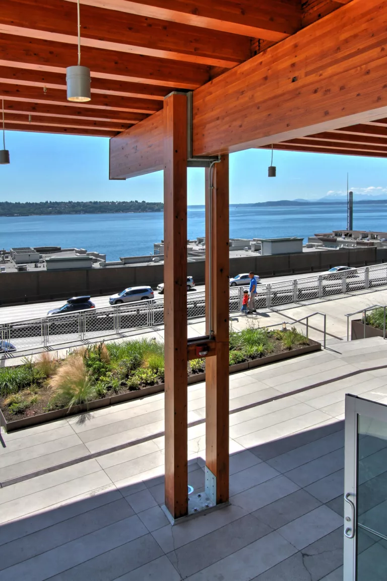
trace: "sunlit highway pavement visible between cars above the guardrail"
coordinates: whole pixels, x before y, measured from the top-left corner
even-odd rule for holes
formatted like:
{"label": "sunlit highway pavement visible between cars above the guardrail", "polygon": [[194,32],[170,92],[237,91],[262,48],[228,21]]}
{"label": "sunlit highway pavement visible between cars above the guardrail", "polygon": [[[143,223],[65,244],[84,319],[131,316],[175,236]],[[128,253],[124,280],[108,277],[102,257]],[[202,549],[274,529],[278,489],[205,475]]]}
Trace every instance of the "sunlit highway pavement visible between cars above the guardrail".
{"label": "sunlit highway pavement visible between cars above the guardrail", "polygon": [[[236,274],[236,273],[233,273]],[[261,281],[262,285],[266,284],[273,284],[274,282],[281,282],[281,281],[293,281],[294,279],[303,279],[303,278],[310,278],[316,276],[318,273],[307,273],[307,274],[299,274],[299,275],[286,275],[283,277],[270,277],[264,278]],[[119,292],[122,289],[117,289]],[[194,289],[190,290],[187,294],[188,296],[193,296],[196,292],[203,292],[205,290],[204,285],[195,286]],[[109,296],[95,296],[91,297],[93,303],[97,309],[101,309],[102,307],[109,307]],[[69,297],[70,298],[70,297]],[[155,298],[156,299],[163,299],[163,295],[160,295],[157,290],[155,290]],[[2,323],[9,323],[15,321],[24,321],[31,318],[39,318],[45,317],[51,309],[56,309],[56,307],[61,307],[64,303],[66,303],[65,299],[60,300],[53,300],[41,303],[28,303],[28,304],[19,304],[15,306],[3,306],[0,307],[0,324]]]}

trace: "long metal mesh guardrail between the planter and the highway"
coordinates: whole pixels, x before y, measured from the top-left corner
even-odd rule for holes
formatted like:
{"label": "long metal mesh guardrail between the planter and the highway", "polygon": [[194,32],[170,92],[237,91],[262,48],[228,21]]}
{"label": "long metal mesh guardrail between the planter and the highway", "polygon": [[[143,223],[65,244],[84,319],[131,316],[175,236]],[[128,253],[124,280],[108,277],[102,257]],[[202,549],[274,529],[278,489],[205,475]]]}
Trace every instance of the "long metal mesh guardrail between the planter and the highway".
{"label": "long metal mesh guardrail between the planter and the highway", "polygon": [[[387,285],[387,264],[361,267],[355,275],[349,271],[340,278],[324,275],[257,286],[256,308],[275,309],[283,304],[303,304],[349,292],[369,292],[371,287]],[[243,287],[230,288],[230,313],[241,309]],[[364,310],[364,309],[363,309]],[[187,295],[188,320],[205,316],[205,293]],[[119,306],[80,311],[69,315],[42,317],[0,325],[0,339],[13,343],[17,350],[52,348],[54,346],[125,336],[136,329],[164,323],[162,299],[124,303]]]}

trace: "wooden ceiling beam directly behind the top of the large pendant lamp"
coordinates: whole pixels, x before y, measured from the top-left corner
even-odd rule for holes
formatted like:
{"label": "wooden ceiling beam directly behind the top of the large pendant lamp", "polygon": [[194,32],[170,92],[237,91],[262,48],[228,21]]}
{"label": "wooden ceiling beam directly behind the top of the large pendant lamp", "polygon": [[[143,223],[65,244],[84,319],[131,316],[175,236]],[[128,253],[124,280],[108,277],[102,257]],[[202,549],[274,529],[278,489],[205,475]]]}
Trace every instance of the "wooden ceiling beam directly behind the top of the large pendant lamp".
{"label": "wooden ceiling beam directly behind the top of the large pendant lamp", "polygon": [[[0,33],[0,59],[19,63],[67,67],[77,63],[77,46],[38,38],[28,39]],[[194,89],[209,80],[210,68],[203,64],[180,63],[154,56],[125,54],[84,46],[82,63],[92,73],[124,76],[132,83]],[[114,78],[114,77],[113,77]]]}

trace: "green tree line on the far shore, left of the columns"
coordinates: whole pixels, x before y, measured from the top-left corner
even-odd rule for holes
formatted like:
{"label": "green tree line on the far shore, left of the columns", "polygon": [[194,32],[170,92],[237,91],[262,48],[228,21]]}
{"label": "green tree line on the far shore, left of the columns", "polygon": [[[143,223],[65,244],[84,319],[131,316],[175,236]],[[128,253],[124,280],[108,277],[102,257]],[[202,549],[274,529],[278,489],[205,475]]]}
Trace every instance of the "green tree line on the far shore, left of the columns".
{"label": "green tree line on the far shore, left of the columns", "polygon": [[58,214],[117,214],[162,212],[161,202],[0,202],[0,216],[56,216]]}

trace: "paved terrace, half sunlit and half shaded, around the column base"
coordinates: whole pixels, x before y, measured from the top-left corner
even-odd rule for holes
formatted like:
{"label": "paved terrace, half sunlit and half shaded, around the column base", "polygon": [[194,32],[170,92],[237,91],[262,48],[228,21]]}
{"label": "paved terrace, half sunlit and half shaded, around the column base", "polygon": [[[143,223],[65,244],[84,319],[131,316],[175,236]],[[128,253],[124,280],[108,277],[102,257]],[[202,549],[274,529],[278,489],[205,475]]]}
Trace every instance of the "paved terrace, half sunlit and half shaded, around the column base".
{"label": "paved terrace, half sunlit and half shaded, around the column base", "polygon": [[[366,339],[232,375],[230,506],[173,528],[162,393],[2,433],[2,581],[342,581],[343,401],[387,403],[386,354]],[[188,389],[197,493],[205,388]]]}

